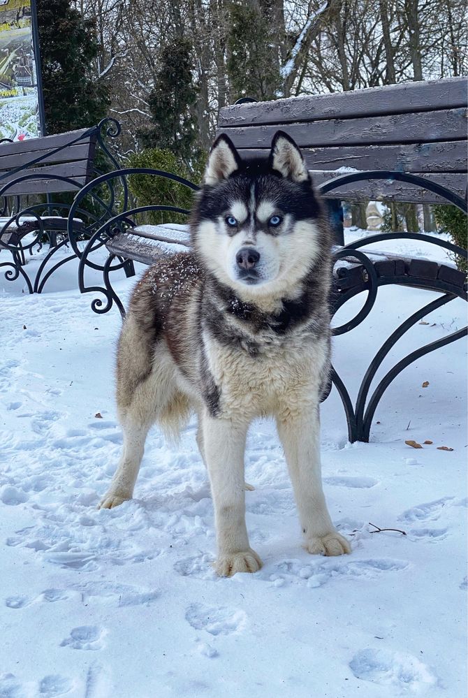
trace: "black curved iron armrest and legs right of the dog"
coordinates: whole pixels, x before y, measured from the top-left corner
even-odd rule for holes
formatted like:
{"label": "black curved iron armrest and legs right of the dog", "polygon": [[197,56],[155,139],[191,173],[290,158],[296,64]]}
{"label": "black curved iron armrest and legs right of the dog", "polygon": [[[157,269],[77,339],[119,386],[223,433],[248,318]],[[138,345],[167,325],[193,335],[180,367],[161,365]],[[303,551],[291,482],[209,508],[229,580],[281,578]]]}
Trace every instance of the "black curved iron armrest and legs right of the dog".
{"label": "black curved iron armrest and legs right of the dog", "polygon": [[[410,175],[407,173],[400,172],[389,172],[387,170],[375,170],[372,172],[356,172],[349,175],[343,175],[336,177],[326,184],[322,184],[319,187],[319,191],[322,194],[327,194],[334,189],[339,189],[344,184],[350,184],[351,182],[357,182],[358,180],[367,179],[382,179],[382,180],[399,180],[402,182],[409,182],[411,184],[417,184],[420,187],[425,187],[433,191],[434,194],[446,199],[446,201],[452,203],[462,210],[462,212],[467,213],[467,201],[462,199],[460,196],[455,194],[453,191],[449,191],[445,187],[441,187],[440,184],[430,182],[424,177],[418,177],[418,175]],[[386,375],[379,381],[376,388],[371,394],[371,386],[376,377],[376,373],[381,368],[383,360],[388,356],[389,352],[395,346],[396,342],[407,332],[411,327],[414,326],[416,322],[421,320],[427,314],[450,303],[455,298],[462,298],[467,300],[467,284],[455,284],[453,282],[444,279],[415,279],[411,275],[399,275],[397,273],[390,275],[379,276],[374,268],[374,262],[372,261],[372,251],[365,254],[362,250],[363,247],[372,245],[375,242],[382,242],[395,239],[413,239],[418,240],[418,242],[430,242],[432,245],[437,247],[442,247],[448,252],[451,252],[454,256],[460,256],[463,259],[467,259],[467,250],[462,249],[458,245],[454,245],[451,242],[442,240],[441,238],[435,238],[433,235],[425,235],[423,233],[377,233],[376,235],[367,235],[365,238],[350,242],[344,247],[340,247],[337,252],[335,252],[335,263],[339,263],[340,260],[346,259],[351,265],[360,265],[362,267],[362,277],[360,283],[356,282],[351,284],[349,289],[341,290],[339,289],[339,279],[335,279],[338,290],[332,298],[332,312],[335,314],[344,303],[358,293],[367,293],[367,298],[363,307],[351,320],[346,321],[341,326],[333,329],[334,335],[342,335],[349,330],[357,327],[363,320],[367,317],[372,310],[375,303],[377,291],[379,286],[384,286],[387,284],[408,284],[413,286],[418,286],[420,288],[425,288],[431,291],[439,291],[442,293],[439,298],[432,300],[427,303],[420,310],[414,312],[411,317],[407,318],[390,336],[383,342],[380,349],[376,352],[374,358],[372,359],[363,380],[361,381],[360,388],[358,390],[358,395],[356,397],[356,402],[353,405],[351,396],[344,384],[344,381],[337,373],[335,368],[332,368],[331,382],[337,388],[337,392],[342,400],[344,412],[346,414],[346,420],[348,423],[348,435],[351,442],[354,441],[369,441],[370,429],[372,426],[372,419],[379,405],[383,394],[385,393],[388,386],[392,381],[400,375],[400,373],[407,368],[411,363],[417,361],[421,356],[429,354],[435,349],[444,347],[451,342],[455,342],[464,337],[468,333],[468,328],[462,328],[456,332],[447,335],[446,337],[441,337],[439,340],[425,344],[423,347],[411,351],[410,354],[402,358],[400,361],[393,365]],[[371,271],[372,269],[372,271]],[[330,386],[331,387],[331,386]]]}

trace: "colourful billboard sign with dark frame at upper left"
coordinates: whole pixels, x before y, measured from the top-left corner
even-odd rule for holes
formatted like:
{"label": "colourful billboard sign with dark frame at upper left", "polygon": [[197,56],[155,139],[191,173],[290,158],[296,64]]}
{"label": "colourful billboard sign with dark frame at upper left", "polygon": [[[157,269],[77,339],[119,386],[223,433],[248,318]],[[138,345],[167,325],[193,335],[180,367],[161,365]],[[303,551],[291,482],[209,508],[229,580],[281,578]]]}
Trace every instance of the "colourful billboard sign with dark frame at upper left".
{"label": "colourful billboard sign with dark frame at upper left", "polygon": [[0,140],[41,136],[31,0],[0,0]]}

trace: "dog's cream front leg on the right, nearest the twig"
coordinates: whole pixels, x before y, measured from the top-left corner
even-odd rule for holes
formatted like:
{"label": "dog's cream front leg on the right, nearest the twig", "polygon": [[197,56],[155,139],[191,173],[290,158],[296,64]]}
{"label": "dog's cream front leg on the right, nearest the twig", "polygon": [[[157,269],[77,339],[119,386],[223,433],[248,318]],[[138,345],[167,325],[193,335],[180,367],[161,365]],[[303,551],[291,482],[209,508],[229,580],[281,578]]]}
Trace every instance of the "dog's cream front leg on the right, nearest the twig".
{"label": "dog's cream front leg on the right, nearest the twig", "polygon": [[319,405],[286,408],[277,416],[279,438],[284,446],[298,504],[302,532],[309,553],[342,555],[351,552],[349,542],[332,524],[323,495],[320,465]]}

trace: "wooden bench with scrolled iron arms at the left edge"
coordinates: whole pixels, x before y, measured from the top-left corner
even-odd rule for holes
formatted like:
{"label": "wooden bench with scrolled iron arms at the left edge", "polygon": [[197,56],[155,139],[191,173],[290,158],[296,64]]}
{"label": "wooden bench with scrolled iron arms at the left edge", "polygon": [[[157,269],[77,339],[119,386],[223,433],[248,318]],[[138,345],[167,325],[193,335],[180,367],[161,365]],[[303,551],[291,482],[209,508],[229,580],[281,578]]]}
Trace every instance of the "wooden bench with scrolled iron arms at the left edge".
{"label": "wooden bench with scrolled iron arms at the left edge", "polygon": [[[53,195],[76,192],[96,176],[94,159],[96,145],[102,145],[103,123],[56,136],[0,142],[0,268],[7,268],[8,280],[21,275],[29,293],[41,293],[41,273],[50,256],[66,243],[67,226],[73,226],[76,234],[82,230],[80,215],[69,219],[70,204],[63,203],[62,196],[53,201]],[[50,256],[29,278],[25,252],[40,249],[44,240],[49,242]]]}

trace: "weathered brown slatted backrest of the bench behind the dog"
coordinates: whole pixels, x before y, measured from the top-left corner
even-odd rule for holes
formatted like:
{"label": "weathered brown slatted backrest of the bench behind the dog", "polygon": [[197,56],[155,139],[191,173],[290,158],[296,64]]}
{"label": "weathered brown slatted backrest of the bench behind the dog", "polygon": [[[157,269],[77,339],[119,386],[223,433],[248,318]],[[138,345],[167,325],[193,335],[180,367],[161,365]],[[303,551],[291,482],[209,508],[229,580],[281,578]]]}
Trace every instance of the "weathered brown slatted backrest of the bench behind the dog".
{"label": "weathered brown slatted backrest of the bench behind the dog", "polygon": [[[466,78],[409,82],[225,107],[218,133],[226,133],[240,154],[254,155],[268,152],[275,131],[286,131],[301,147],[316,184],[345,168],[400,170],[430,177],[464,197],[466,108]],[[388,180],[356,182],[326,196],[441,201],[413,185]]]}

